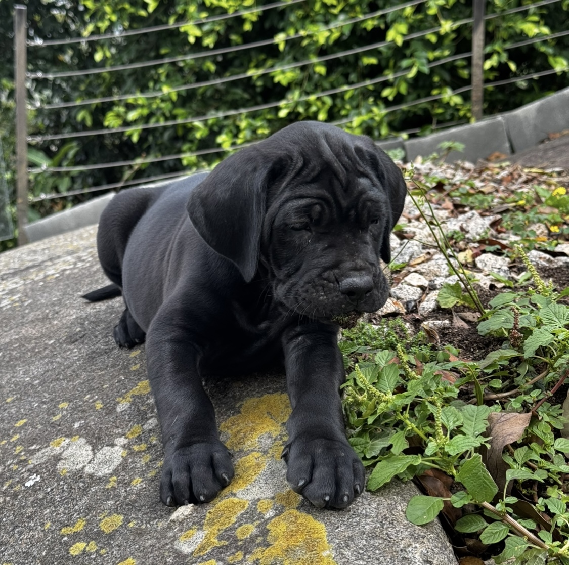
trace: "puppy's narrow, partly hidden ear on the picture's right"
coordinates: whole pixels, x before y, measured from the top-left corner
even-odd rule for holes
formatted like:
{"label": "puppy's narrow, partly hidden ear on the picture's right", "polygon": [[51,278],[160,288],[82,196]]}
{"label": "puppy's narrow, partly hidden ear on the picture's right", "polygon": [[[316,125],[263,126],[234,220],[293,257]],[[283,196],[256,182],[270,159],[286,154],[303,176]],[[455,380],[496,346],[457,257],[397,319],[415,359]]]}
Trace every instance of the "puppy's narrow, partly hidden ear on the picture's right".
{"label": "puppy's narrow, partly hidden ear on the picture's right", "polygon": [[391,230],[394,228],[395,224],[397,224],[399,216],[401,216],[401,212],[403,212],[405,196],[407,195],[407,185],[405,184],[405,179],[403,179],[402,172],[393,162],[393,159],[391,159],[386,152],[377,147],[375,143],[373,143],[372,153],[372,168],[376,172],[381,184],[387,192],[387,200],[389,202],[389,218],[385,224],[380,250],[381,258],[389,264],[391,261],[389,236],[391,234]]}

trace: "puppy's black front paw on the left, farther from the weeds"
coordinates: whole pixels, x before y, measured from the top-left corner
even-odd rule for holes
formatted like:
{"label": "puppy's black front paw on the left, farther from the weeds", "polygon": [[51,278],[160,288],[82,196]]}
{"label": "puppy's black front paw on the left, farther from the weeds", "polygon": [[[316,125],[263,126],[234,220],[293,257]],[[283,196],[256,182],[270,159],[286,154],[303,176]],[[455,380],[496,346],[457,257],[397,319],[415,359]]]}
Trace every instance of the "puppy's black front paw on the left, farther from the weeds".
{"label": "puppy's black front paw on the left, farther from the weeds", "polygon": [[167,506],[209,502],[233,479],[233,463],[221,442],[195,443],[164,457],[160,499]]}

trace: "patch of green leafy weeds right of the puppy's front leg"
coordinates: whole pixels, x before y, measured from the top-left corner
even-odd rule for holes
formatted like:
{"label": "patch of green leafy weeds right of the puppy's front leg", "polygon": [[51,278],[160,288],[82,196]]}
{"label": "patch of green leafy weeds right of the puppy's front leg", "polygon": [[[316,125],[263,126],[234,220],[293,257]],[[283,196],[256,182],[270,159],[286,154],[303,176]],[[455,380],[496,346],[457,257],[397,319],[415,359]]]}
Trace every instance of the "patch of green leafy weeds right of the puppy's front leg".
{"label": "patch of green leafy weeds right of the puppy's front leg", "polygon": [[[433,232],[451,263],[440,225]],[[502,339],[484,360],[438,350],[397,319],[344,331],[345,418],[371,471],[368,489],[394,477],[439,477],[438,496],[411,498],[411,522],[442,511],[497,564],[569,565],[569,434],[553,399],[569,376],[569,288],[554,290],[520,246],[516,253],[527,284],[512,284],[488,310],[464,270],[459,279],[469,286],[442,291],[443,306],[477,307],[480,335]]]}

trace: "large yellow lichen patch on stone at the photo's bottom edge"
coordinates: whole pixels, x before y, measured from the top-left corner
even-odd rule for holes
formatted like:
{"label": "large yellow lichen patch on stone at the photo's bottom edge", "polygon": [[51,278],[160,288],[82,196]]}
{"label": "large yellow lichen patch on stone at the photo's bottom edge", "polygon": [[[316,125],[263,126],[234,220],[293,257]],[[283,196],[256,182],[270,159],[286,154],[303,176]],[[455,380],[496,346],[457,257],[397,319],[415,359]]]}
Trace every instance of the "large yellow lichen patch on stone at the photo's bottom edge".
{"label": "large yellow lichen patch on stone at the photo's bottom edge", "polygon": [[270,546],[258,548],[250,562],[259,565],[337,565],[326,538],[324,524],[312,516],[287,510],[268,524]]}

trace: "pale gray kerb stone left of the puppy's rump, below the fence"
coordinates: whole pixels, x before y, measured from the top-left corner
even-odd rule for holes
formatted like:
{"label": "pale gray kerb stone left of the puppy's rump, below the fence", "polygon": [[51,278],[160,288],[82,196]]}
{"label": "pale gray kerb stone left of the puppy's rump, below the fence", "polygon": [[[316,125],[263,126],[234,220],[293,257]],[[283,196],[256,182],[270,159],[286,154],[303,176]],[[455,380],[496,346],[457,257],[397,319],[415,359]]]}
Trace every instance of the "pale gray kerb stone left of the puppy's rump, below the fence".
{"label": "pale gray kerb stone left of the puppy's rump, below the fence", "polygon": [[28,238],[30,241],[39,241],[46,237],[97,224],[102,211],[114,195],[114,192],[108,192],[83,204],[78,204],[69,210],[52,214],[42,218],[42,220],[28,224],[25,228]]}

